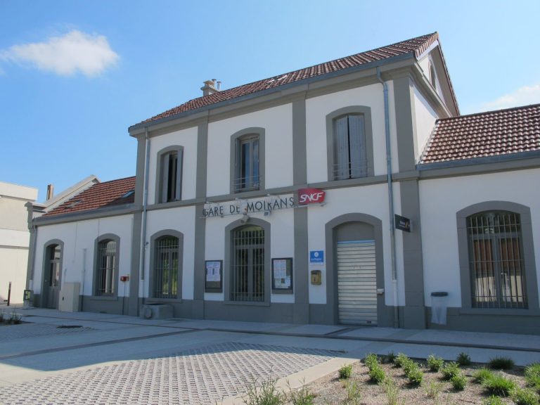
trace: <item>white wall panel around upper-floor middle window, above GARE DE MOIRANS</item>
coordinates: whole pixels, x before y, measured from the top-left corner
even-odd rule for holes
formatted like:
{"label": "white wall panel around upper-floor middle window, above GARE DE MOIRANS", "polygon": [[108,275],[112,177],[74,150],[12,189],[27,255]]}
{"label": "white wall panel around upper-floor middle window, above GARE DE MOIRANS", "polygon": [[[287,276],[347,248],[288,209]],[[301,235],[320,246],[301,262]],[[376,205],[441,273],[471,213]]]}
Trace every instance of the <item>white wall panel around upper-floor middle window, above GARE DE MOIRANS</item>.
{"label": "white wall panel around upper-floor middle window, above GARE DE MOIRANS", "polygon": [[250,127],[264,128],[265,188],[293,184],[293,109],[285,104],[208,124],[208,196],[231,192],[231,136]]}

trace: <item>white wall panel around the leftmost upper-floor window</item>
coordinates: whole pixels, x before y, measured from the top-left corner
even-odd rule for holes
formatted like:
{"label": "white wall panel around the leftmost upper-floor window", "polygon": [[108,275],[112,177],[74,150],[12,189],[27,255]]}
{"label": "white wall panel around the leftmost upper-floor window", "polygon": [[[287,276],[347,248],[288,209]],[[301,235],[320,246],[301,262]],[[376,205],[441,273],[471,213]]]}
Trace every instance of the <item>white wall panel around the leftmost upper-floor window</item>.
{"label": "white wall panel around the leftmost upper-floor window", "polygon": [[183,146],[181,199],[195,198],[197,176],[197,127],[174,131],[170,134],[150,139],[150,160],[148,162],[148,204],[155,204],[155,189],[158,186],[158,153],[168,146]]}

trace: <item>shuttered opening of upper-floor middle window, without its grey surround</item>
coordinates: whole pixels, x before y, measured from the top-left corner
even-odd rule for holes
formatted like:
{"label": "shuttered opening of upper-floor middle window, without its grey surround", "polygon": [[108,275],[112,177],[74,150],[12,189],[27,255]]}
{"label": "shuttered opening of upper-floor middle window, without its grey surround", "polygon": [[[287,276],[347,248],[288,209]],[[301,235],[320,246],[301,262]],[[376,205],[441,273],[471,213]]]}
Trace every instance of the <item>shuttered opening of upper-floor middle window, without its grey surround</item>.
{"label": "shuttered opening of upper-floor middle window, without its grey surround", "polygon": [[259,190],[259,136],[248,136],[236,141],[236,192]]}

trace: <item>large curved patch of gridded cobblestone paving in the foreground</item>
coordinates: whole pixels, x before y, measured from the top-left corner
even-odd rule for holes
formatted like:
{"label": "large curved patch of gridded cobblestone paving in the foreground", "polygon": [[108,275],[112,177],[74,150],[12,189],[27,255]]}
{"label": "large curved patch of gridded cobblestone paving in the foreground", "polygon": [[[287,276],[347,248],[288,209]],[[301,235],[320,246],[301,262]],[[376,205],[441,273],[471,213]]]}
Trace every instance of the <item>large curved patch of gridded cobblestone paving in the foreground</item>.
{"label": "large curved patch of gridded cobblestone paving in the foreground", "polygon": [[216,404],[253,378],[283,378],[340,352],[227,342],[1,388],[0,404]]}

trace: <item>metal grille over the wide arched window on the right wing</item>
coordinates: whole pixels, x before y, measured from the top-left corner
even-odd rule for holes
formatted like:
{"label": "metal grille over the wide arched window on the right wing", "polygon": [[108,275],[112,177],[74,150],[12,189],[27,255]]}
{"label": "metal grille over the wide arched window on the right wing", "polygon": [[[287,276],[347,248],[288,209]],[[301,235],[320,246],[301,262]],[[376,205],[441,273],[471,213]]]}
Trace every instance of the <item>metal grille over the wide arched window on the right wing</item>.
{"label": "metal grille over the wide arched window on the right wing", "polygon": [[527,308],[520,215],[482,212],[467,219],[475,308]]}

